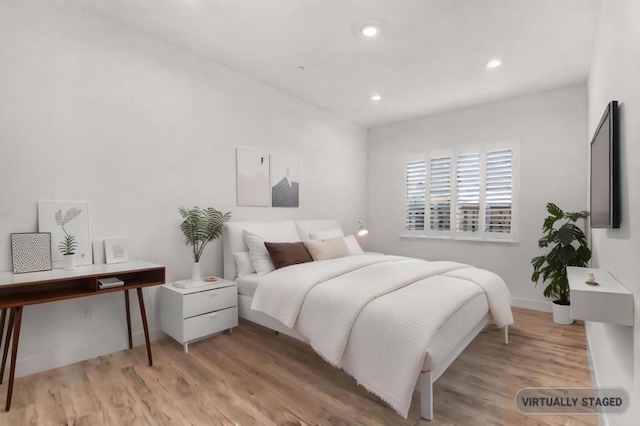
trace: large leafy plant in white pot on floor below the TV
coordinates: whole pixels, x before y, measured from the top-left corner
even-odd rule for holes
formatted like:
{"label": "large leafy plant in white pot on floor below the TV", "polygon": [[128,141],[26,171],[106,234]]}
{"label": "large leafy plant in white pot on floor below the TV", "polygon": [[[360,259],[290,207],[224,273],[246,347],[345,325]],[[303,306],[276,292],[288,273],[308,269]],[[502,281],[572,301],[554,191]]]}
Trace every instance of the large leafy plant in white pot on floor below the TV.
{"label": "large leafy plant in white pot on floor below the TV", "polygon": [[569,302],[569,280],[567,266],[585,267],[591,259],[587,238],[576,222],[589,217],[589,212],[565,213],[553,203],[547,204],[549,216],[544,220],[544,235],[538,240],[538,247],[548,249],[547,254],[531,259],[533,274],[531,281],[538,285],[542,278],[547,283],[546,297],[552,297],[553,321],[557,324],[571,324]]}

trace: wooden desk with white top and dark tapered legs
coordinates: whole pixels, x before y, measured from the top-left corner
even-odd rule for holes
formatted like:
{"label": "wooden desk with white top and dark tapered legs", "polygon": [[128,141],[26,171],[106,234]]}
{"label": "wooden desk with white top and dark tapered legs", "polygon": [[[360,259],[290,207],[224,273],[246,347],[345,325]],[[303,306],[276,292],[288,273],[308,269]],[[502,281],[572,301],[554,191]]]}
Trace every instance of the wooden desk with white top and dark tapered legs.
{"label": "wooden desk with white top and dark tapered legs", "polygon": [[[98,279],[102,277],[117,276],[124,281],[124,286],[100,290]],[[22,322],[22,308],[28,305],[55,302],[58,300],[75,299],[78,297],[94,296],[114,291],[124,291],[125,306],[127,311],[127,332],[129,334],[129,349],[133,347],[131,337],[131,314],[129,309],[129,290],[138,292],[142,327],[147,344],[147,356],[149,365],[153,365],[151,357],[151,343],[149,340],[149,327],[147,325],[147,313],[142,297],[142,287],[164,284],[165,268],[148,262],[127,262],[113,265],[80,266],[73,271],[54,269],[45,272],[32,272],[27,274],[12,274],[0,272],[0,341],[4,334],[4,323],[9,312],[9,324],[6,336],[4,336],[4,348],[2,364],[0,365],[0,384],[4,379],[4,370],[11,345],[11,366],[9,369],[9,388],[7,389],[6,411],[11,408],[11,396],[13,393],[13,380],[16,369],[16,357],[20,340],[20,324]]]}

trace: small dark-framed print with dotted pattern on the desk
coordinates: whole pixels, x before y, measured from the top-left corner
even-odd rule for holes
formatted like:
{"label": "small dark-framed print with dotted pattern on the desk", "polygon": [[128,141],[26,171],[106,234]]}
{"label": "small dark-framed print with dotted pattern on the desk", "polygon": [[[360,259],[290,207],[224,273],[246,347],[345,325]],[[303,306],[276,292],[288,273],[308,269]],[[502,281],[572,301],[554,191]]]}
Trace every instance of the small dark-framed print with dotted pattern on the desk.
{"label": "small dark-framed print with dotted pattern on the desk", "polygon": [[51,234],[26,232],[11,234],[13,273],[50,271]]}

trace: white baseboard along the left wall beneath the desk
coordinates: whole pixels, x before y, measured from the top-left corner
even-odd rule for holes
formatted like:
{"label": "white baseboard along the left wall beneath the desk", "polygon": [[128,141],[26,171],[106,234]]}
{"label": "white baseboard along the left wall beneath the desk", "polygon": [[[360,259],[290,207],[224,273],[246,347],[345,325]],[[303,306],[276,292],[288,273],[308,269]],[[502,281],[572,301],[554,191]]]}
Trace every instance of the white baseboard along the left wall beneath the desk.
{"label": "white baseboard along the left wall beneath the desk", "polygon": [[[152,342],[163,339],[164,337],[166,337],[166,334],[164,334],[160,328],[149,330],[149,338]],[[134,347],[145,344],[144,333],[142,331],[134,332],[132,338]],[[99,343],[91,342],[73,348],[45,352],[28,358],[20,358],[20,350],[18,350],[16,377],[28,376],[41,371],[64,367],[65,365],[122,351],[128,349],[128,347],[129,343],[127,342],[125,333],[124,336],[115,336]],[[5,374],[6,377],[8,377],[8,373]]]}

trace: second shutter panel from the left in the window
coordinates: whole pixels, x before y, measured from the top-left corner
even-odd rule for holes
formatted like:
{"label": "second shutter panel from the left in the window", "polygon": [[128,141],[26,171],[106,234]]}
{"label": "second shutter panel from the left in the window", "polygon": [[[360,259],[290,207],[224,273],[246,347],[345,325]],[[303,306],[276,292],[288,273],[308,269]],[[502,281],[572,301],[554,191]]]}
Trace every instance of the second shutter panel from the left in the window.
{"label": "second shutter panel from the left in the window", "polygon": [[429,160],[429,226],[432,231],[451,229],[451,155]]}

